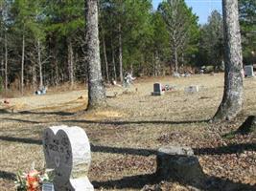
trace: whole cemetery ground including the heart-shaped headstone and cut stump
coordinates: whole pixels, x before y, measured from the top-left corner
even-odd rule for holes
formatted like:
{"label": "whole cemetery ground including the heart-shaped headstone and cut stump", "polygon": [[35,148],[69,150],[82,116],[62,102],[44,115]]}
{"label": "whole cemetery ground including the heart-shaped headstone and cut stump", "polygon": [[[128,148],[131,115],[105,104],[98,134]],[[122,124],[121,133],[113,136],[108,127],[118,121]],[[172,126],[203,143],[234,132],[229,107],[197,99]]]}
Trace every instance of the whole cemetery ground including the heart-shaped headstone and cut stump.
{"label": "whole cemetery ground including the heart-shaped headstone and cut stump", "polygon": [[[159,83],[175,90],[152,96]],[[194,84],[204,88],[187,94]],[[1,99],[0,190],[14,190],[17,172],[33,163],[55,169],[57,190],[255,190],[255,134],[230,136],[255,114],[255,87],[244,78],[244,109],[222,123],[208,120],[223,74],[142,77],[129,94],[113,85],[105,110],[81,114],[86,90],[10,98],[14,112]]]}

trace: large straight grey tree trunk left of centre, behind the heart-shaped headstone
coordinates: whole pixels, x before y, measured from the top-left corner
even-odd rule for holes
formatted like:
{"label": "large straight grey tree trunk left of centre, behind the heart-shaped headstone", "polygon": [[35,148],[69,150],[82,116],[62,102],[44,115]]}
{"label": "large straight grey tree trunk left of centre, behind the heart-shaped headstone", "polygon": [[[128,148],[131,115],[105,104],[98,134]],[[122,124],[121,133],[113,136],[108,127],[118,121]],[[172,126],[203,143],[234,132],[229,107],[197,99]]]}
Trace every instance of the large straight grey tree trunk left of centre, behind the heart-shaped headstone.
{"label": "large straight grey tree trunk left of centre, behind the heart-shaped headstone", "polygon": [[86,16],[86,62],[88,64],[88,107],[87,110],[106,106],[105,87],[101,70],[100,42],[98,29],[98,2],[85,0]]}

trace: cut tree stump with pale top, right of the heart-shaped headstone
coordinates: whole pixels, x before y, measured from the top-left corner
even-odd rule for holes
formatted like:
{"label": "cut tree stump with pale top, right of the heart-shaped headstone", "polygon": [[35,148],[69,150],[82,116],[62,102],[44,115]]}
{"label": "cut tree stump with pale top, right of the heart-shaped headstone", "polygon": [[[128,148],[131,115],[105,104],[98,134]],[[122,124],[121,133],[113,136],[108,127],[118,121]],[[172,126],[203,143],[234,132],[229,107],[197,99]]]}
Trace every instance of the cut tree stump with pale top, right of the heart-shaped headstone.
{"label": "cut tree stump with pale top, right of the heart-shaped headstone", "polygon": [[206,176],[192,148],[164,146],[158,150],[156,160],[156,175],[160,180],[177,180],[196,187],[204,184]]}

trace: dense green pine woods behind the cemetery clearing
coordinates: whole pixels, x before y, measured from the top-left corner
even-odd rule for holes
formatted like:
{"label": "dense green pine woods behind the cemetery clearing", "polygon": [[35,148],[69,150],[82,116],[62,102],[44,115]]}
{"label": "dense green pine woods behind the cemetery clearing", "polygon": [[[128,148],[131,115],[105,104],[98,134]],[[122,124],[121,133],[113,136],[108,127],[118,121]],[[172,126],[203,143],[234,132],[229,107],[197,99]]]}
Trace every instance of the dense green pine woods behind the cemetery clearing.
{"label": "dense green pine woods behind the cemetery clearing", "polygon": [[[223,62],[221,12],[213,11],[199,25],[184,0],[163,1],[157,10],[151,0],[98,3],[105,82],[122,81],[127,72],[165,75]],[[23,93],[24,88],[86,81],[84,8],[83,0],[1,0],[1,89]],[[239,10],[244,64],[253,64],[256,3],[240,0]]]}

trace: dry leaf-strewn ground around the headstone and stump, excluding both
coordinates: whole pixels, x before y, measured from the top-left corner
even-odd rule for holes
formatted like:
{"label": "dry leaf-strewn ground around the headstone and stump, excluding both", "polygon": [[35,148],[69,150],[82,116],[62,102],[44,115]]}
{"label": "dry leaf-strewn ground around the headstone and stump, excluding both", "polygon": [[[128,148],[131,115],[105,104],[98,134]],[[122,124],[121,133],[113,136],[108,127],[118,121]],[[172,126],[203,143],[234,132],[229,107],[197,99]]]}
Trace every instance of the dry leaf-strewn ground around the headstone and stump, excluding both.
{"label": "dry leaf-strewn ground around the headstone and stump, excluding both", "polygon": [[[153,82],[175,90],[151,96]],[[190,85],[199,85],[199,92],[186,93],[184,88]],[[256,115],[256,79],[244,79],[244,110],[239,117],[208,123],[222,91],[223,74],[140,78],[128,90],[108,87],[107,110],[80,115],[86,108],[85,90],[55,93],[50,89],[45,96],[12,98],[9,104],[1,99],[0,190],[14,190],[15,174],[28,171],[33,161],[43,169],[42,132],[59,124],[85,130],[92,149],[89,180],[96,190],[191,190],[184,183],[150,179],[157,149],[169,144],[194,148],[209,177],[205,190],[256,190],[255,135],[223,137],[245,117]]]}

